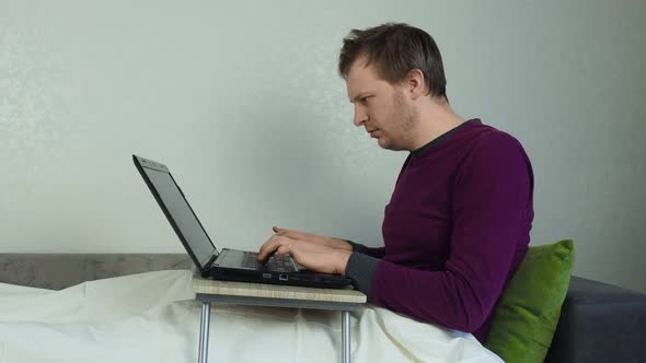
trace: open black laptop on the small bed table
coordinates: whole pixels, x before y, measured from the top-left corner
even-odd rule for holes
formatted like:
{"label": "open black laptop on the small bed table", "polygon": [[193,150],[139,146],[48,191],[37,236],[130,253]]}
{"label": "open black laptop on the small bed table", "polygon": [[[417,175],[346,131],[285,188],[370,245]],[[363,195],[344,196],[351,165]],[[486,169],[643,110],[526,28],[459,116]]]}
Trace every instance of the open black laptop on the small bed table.
{"label": "open black laptop on the small bed table", "polygon": [[254,251],[218,251],[169,168],[137,155],[132,161],[204,278],[328,289],[353,285],[349,278],[307,270],[290,256],[272,256],[262,264]]}

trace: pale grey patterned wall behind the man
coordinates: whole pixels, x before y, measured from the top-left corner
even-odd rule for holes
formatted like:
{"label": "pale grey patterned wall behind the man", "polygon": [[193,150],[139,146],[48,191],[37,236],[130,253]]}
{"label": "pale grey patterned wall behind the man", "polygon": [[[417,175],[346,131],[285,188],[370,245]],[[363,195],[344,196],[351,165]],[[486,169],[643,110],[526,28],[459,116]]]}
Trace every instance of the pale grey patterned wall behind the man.
{"label": "pale grey patterned wall behind the man", "polygon": [[132,153],[171,166],[220,246],[274,224],[380,245],[405,153],[351,124],[353,27],[442,50],[463,117],[535,172],[532,244],[646,292],[644,1],[0,0],[0,253],[175,253]]}

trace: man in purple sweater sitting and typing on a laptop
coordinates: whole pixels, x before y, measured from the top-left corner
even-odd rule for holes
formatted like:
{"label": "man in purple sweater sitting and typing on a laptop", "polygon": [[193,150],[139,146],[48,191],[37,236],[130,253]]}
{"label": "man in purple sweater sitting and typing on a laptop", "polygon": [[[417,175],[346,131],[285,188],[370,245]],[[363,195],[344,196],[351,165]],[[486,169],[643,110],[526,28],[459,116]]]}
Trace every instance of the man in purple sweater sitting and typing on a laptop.
{"label": "man in purple sweater sitting and typing on a laptop", "polygon": [[274,227],[259,250],[350,277],[372,304],[473,332],[484,342],[503,289],[524,257],[533,172],[520,143],[451,109],[440,52],[406,24],[354,30],[338,69],[355,125],[409,152],[383,219],[384,247]]}

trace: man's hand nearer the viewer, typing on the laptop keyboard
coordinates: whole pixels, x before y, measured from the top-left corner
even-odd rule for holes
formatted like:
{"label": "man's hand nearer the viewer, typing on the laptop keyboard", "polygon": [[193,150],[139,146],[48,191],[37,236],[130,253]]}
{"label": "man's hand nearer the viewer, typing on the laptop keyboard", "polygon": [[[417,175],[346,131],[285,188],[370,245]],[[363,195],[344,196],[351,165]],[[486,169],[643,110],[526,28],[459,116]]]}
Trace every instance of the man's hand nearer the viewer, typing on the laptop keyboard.
{"label": "man's hand nearer the viewer, typing on the laptop keyboard", "polygon": [[343,276],[345,276],[345,268],[351,254],[343,248],[332,248],[322,243],[290,238],[278,233],[261,246],[258,260],[265,260],[274,251],[276,251],[278,259],[289,254],[299,265],[312,271]]}

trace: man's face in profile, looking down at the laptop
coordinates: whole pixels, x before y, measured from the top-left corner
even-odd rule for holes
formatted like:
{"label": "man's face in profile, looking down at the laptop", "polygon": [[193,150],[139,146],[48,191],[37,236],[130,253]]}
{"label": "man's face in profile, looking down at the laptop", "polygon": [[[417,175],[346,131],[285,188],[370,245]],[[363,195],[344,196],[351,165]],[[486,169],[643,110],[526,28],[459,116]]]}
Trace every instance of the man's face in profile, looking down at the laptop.
{"label": "man's face in profile, looking down at the laptop", "polygon": [[382,80],[362,58],[350,67],[346,86],[355,105],[355,125],[365,127],[383,149],[409,150],[419,115],[406,99],[404,86]]}

